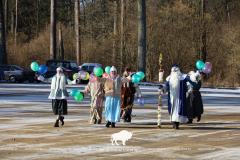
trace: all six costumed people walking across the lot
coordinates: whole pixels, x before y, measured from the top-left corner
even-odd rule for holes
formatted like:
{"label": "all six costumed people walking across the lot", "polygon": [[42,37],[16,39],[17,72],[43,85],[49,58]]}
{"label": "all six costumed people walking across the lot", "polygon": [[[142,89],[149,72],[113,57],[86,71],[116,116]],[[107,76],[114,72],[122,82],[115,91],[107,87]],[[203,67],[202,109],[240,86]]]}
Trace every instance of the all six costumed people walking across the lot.
{"label": "all six costumed people walking across the lot", "polygon": [[[115,127],[116,122],[131,122],[134,95],[141,97],[141,91],[137,83],[131,81],[135,72],[130,67],[125,67],[123,76],[117,74],[117,69],[112,66],[107,77],[98,77],[96,82],[89,82],[84,91],[81,91],[85,98],[90,93],[90,123],[101,124],[102,106],[105,100],[106,127]],[[159,86],[159,92],[168,92],[168,112],[173,128],[179,129],[179,123],[192,123],[194,118],[200,121],[203,114],[203,104],[199,89],[201,70],[191,71],[183,74],[180,68],[175,65],[171,74],[166,78],[166,83]],[[64,117],[67,114],[67,99],[69,97],[65,84],[77,84],[77,79],[70,81],[64,74],[61,67],[57,68],[57,74],[52,78],[44,78],[41,75],[38,79],[51,83],[49,99],[52,99],[52,111],[57,115],[54,127],[64,125]],[[187,122],[188,118],[188,122]]]}

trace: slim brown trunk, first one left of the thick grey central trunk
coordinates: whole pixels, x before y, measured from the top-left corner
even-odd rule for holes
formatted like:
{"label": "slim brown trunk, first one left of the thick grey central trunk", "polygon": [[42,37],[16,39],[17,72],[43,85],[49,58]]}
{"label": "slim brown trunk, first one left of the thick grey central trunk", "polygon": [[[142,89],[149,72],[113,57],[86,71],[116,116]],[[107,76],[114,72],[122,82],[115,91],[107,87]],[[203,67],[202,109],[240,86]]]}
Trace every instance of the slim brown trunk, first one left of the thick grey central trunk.
{"label": "slim brown trunk, first one left of the thick grey central trunk", "polygon": [[120,65],[120,73],[123,72],[123,67],[125,65],[125,48],[124,48],[124,28],[126,22],[126,0],[121,0],[121,47],[120,47],[120,54],[121,54],[121,65]]}

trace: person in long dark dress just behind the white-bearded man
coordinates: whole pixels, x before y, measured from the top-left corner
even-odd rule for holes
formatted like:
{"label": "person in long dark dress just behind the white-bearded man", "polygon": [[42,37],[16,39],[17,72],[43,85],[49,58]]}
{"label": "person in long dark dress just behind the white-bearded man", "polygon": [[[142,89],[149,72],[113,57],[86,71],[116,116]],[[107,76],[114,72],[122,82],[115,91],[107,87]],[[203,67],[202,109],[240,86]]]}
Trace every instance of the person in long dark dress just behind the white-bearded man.
{"label": "person in long dark dress just behind the white-bearded man", "polygon": [[[195,74],[194,71],[190,71],[188,75]],[[187,90],[187,123],[192,123],[195,117],[198,117],[197,122],[201,120],[201,115],[203,114],[203,103],[202,96],[199,92],[202,83],[201,76],[197,77],[196,81],[187,82],[188,90]]]}

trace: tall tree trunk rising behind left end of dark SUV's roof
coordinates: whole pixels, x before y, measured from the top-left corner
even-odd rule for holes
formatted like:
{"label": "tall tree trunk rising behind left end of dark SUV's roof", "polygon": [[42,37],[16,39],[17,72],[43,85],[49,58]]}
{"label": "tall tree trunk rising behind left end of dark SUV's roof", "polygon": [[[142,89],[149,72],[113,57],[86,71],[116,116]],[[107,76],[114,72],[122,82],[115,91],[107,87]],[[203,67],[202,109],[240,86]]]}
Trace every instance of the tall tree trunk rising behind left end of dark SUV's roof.
{"label": "tall tree trunk rising behind left end of dark SUV's roof", "polygon": [[56,59],[56,0],[51,0],[50,59]]}

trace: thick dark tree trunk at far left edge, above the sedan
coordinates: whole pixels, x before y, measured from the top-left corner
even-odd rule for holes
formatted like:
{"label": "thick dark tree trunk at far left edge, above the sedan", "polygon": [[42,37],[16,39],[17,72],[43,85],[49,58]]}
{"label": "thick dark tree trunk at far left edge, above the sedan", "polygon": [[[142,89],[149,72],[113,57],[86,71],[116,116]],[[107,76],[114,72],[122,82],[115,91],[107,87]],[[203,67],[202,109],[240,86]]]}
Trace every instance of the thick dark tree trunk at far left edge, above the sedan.
{"label": "thick dark tree trunk at far left edge, above the sedan", "polygon": [[2,0],[0,0],[0,65],[7,64],[6,37]]}

